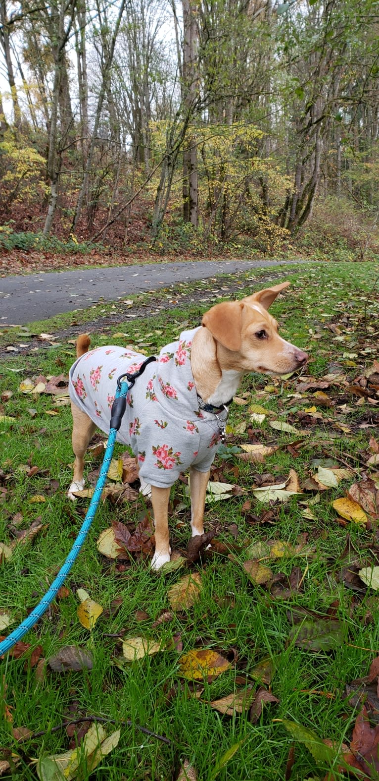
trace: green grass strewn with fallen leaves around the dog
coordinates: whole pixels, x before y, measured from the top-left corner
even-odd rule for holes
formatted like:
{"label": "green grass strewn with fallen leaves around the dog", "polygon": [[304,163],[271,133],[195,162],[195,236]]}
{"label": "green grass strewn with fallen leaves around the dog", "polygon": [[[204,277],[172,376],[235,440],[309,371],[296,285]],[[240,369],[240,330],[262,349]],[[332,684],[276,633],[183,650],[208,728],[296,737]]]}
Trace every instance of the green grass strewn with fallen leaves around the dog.
{"label": "green grass strewn with fallen leaves around the dog", "polygon": [[[372,363],[375,357],[372,334],[377,330],[375,318],[378,314],[377,291],[372,291],[373,270],[372,264],[302,267],[291,276],[293,284],[289,292],[273,305],[272,312],[282,324],[282,335],[310,351],[309,374],[313,377],[320,379],[328,373],[332,362],[340,362],[352,381]],[[277,274],[277,269],[264,271],[265,278]],[[239,276],[241,297],[244,292],[251,292],[250,280],[257,276],[255,270],[253,274]],[[136,347],[143,344],[147,354],[158,351],[179,335],[183,323],[189,321],[196,325],[200,313],[223,294],[218,283],[212,283],[208,290],[207,287],[204,285],[207,301],[190,303],[187,301],[189,290],[186,291],[186,306],[161,312],[154,322],[142,317],[118,323],[113,331],[125,331],[128,334],[125,340]],[[182,288],[178,290],[182,291]],[[217,292],[212,292],[215,290]],[[138,300],[142,303],[142,298]],[[151,304],[148,296],[143,301]],[[341,333],[328,329],[330,323],[337,324]],[[112,326],[107,327],[112,334]],[[33,329],[34,333],[40,328],[53,333],[51,322],[39,323]],[[344,341],[337,338],[341,336]],[[112,342],[99,320],[93,344],[104,344],[105,340]],[[122,344],[122,339],[115,339],[115,342]],[[356,357],[344,357],[348,353],[354,353]],[[12,417],[13,421],[0,420],[0,469],[3,470],[0,488],[7,491],[5,501],[0,504],[0,541],[12,543],[16,514],[23,515],[17,528],[28,529],[40,517],[44,524],[44,530],[34,540],[16,545],[12,558],[2,562],[0,605],[14,621],[10,629],[47,590],[73,544],[81,513],[87,507],[84,500],[73,507],[65,496],[73,461],[69,407],[56,407],[55,399],[49,395],[32,397],[18,390],[20,381],[26,376],[67,373],[73,357],[73,345],[63,342],[58,348],[40,349],[37,353],[16,358],[9,356],[0,369],[2,393],[12,391],[13,394],[9,401],[3,402],[2,410],[2,414]],[[274,415],[272,418],[267,415],[264,422],[256,426],[257,438],[265,444],[275,443],[281,447],[264,464],[241,462],[233,455],[215,462],[221,467],[225,480],[246,490],[243,496],[207,506],[206,529],[217,522],[218,540],[228,547],[230,554],[207,558],[203,569],[200,565],[192,565],[192,569],[201,572],[200,601],[187,611],[175,613],[171,622],[156,628],[151,626],[161,612],[168,609],[168,588],[189,569],[162,576],[151,572],[146,559],[136,559],[131,564],[126,562],[123,570],[114,562],[103,559],[96,548],[101,531],[115,518],[135,524],[138,513],[144,512],[145,504],[140,497],[136,507],[126,502],[118,507],[108,503],[101,506],[85,548],[66,583],[68,595],[55,603],[24,638],[30,644],[26,654],[21,658],[9,657],[3,662],[0,744],[4,747],[5,760],[9,761],[9,751],[18,755],[18,759],[13,758],[16,759],[14,776],[31,781],[36,778],[35,758],[67,750],[66,730],[53,732],[52,729],[62,724],[68,715],[73,719],[97,715],[115,720],[115,725],[105,725],[108,733],[126,719],[134,725],[120,726],[118,747],[101,761],[94,773],[99,779],[176,778],[181,759],[188,758],[193,761],[201,781],[216,777],[220,781],[226,778],[284,781],[289,777],[286,776],[286,764],[292,744],[295,745],[292,781],[322,779],[328,771],[331,779],[343,778],[338,772],[337,761],[332,769],[327,761],[317,764],[305,745],[299,741],[294,743],[280,720],[298,722],[313,729],[321,738],[334,740],[338,746],[342,742],[349,744],[357,709],[344,698],[345,684],[366,675],[370,662],[377,655],[379,598],[370,589],[365,591],[363,588],[363,594],[350,589],[344,585],[340,573],[348,564],[377,563],[375,530],[366,530],[356,524],[340,526],[336,520],[332,501],[343,496],[356,478],[321,492],[318,504],[312,505],[313,520],[304,517],[304,506],[299,505],[299,497],[295,496],[287,504],[271,508],[271,522],[261,522],[267,505],[260,505],[253,498],[251,488],[260,475],[272,473],[286,478],[289,469],[295,469],[302,481],[310,472],[317,471],[312,467],[315,458],[332,458],[336,465],[342,466],[347,462],[362,471],[363,462],[370,455],[368,441],[375,435],[375,430],[359,426],[370,423],[377,408],[365,400],[363,405],[356,406],[358,397],[333,385],[325,392],[336,405],[332,408],[319,406],[312,391],[305,392],[304,398],[291,395],[296,394],[297,382],[295,378],[276,383],[275,391],[269,392],[264,391],[271,383],[267,377],[245,378],[240,394],[250,394],[249,405],[233,405],[232,430],[243,421],[249,421],[251,403],[264,405]],[[306,423],[299,418],[299,412],[303,413],[304,408],[313,404],[323,417],[312,424]],[[352,411],[338,409],[337,405],[343,404]],[[35,412],[30,413],[30,408]],[[58,414],[48,415],[51,411]],[[297,458],[285,445],[299,437],[272,430],[270,419],[292,421],[298,429],[310,426],[310,436],[304,437]],[[331,420],[345,423],[351,433],[338,432]],[[247,434],[231,433],[229,441],[242,444],[247,442]],[[122,449],[118,446],[118,452]],[[98,457],[88,454],[89,470],[96,468],[98,463]],[[39,471],[27,477],[25,465],[35,465]],[[233,472],[235,468],[237,471]],[[371,469],[375,471],[374,466]],[[33,501],[36,496],[44,497],[45,501]],[[307,499],[312,496],[314,494],[306,494]],[[250,512],[243,510],[246,500],[251,501]],[[189,539],[189,501],[181,483],[175,485],[172,501],[173,506],[175,501],[180,502],[172,518],[174,547],[185,549]],[[19,516],[17,518],[16,522],[19,522]],[[238,527],[237,540],[230,533],[232,523]],[[314,548],[313,555],[308,557],[291,556],[269,562],[274,575],[280,572],[290,575],[294,566],[300,567],[304,576],[303,593],[290,598],[272,597],[264,585],[250,583],[243,570],[248,544],[275,539],[293,546],[300,539],[306,539]],[[104,610],[121,597],[118,612],[101,616],[91,631],[84,629],[76,615],[78,587],[87,590]],[[296,609],[313,611],[321,617],[333,613],[341,624],[343,642],[333,651],[312,652],[296,646],[295,641],[289,639]],[[139,620],[141,615],[137,611],[145,612],[146,617]],[[182,652],[166,650],[127,665],[122,662],[119,640],[122,633],[125,637],[143,635],[161,639],[165,644],[181,633]],[[41,645],[42,656],[46,659],[67,645],[83,647],[93,655],[93,669],[57,673],[47,667],[38,675],[36,665],[30,664],[31,651],[37,645]],[[218,678],[210,683],[204,681],[200,699],[191,696],[189,684],[179,678],[179,658],[182,653],[197,647],[207,647],[236,660]],[[270,688],[278,698],[278,704],[264,707],[255,724],[250,722],[249,710],[230,717],[211,708],[210,701],[241,688],[238,676],[253,683],[257,663],[267,657],[274,671]],[[5,704],[9,711],[5,711]],[[168,736],[172,744],[167,746],[153,737],[144,736],[135,725]],[[30,737],[18,744],[12,729],[21,726],[33,733],[44,731],[44,735]],[[239,744],[238,750],[225,767],[220,768],[225,752],[235,744]],[[90,773],[85,767],[82,771],[81,778],[87,779]],[[8,777],[6,772],[4,777]]]}

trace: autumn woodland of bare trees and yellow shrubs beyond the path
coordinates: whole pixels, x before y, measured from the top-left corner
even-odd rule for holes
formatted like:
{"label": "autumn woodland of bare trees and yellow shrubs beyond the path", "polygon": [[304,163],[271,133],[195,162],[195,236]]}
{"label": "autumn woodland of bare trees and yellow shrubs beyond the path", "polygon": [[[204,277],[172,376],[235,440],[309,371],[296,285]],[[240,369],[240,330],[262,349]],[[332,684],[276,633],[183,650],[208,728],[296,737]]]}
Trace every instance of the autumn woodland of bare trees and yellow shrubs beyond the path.
{"label": "autumn woodland of bare trees and yellow shrubs beyond the path", "polygon": [[373,0],[0,0],[0,248],[371,259]]}

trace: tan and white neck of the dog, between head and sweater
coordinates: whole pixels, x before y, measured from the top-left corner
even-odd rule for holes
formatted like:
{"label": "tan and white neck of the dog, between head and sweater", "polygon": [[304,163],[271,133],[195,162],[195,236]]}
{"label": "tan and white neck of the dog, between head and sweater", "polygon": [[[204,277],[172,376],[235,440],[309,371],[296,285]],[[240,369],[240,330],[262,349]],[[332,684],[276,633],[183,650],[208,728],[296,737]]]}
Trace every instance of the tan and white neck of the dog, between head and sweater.
{"label": "tan and white neck of the dog, between head and sweater", "polygon": [[217,343],[207,328],[193,337],[191,369],[197,393],[207,404],[223,405],[236,394],[243,372],[221,367]]}

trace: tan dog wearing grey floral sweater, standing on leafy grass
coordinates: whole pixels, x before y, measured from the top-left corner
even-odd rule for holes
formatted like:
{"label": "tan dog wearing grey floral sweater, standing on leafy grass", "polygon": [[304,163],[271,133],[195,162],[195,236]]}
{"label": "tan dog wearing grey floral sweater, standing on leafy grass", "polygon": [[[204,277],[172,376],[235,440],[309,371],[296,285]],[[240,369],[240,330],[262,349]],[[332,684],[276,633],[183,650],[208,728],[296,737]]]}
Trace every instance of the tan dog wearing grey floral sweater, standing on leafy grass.
{"label": "tan dog wearing grey floral sweater, standing on leafy grass", "polygon": [[[211,307],[201,326],[163,348],[128,391],[117,440],[129,444],[136,456],[142,492],[151,490],[155,570],[170,560],[170,488],[188,468],[192,536],[204,533],[210,467],[242,377],[252,372],[282,375],[308,360],[306,352],[279,336],[278,323],[267,312],[288,286],[283,282]],[[146,360],[125,348],[89,347],[86,334],[78,337],[77,360],[69,373],[75,453],[71,499],[74,490],[83,488],[83,456],[94,430],[109,431],[118,377],[138,372]]]}

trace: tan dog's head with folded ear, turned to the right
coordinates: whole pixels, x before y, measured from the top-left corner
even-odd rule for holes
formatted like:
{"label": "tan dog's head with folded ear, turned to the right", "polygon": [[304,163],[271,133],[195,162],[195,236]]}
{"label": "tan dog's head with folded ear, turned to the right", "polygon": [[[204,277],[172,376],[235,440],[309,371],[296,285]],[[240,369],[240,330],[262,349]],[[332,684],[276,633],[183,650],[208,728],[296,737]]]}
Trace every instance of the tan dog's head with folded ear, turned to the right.
{"label": "tan dog's head with folded ear, turned to the right", "polygon": [[241,301],[216,304],[203,316],[202,324],[221,347],[218,355],[228,368],[244,372],[286,374],[304,366],[308,355],[278,334],[278,323],[267,312],[277,295],[289,286],[283,282],[267,287]]}

